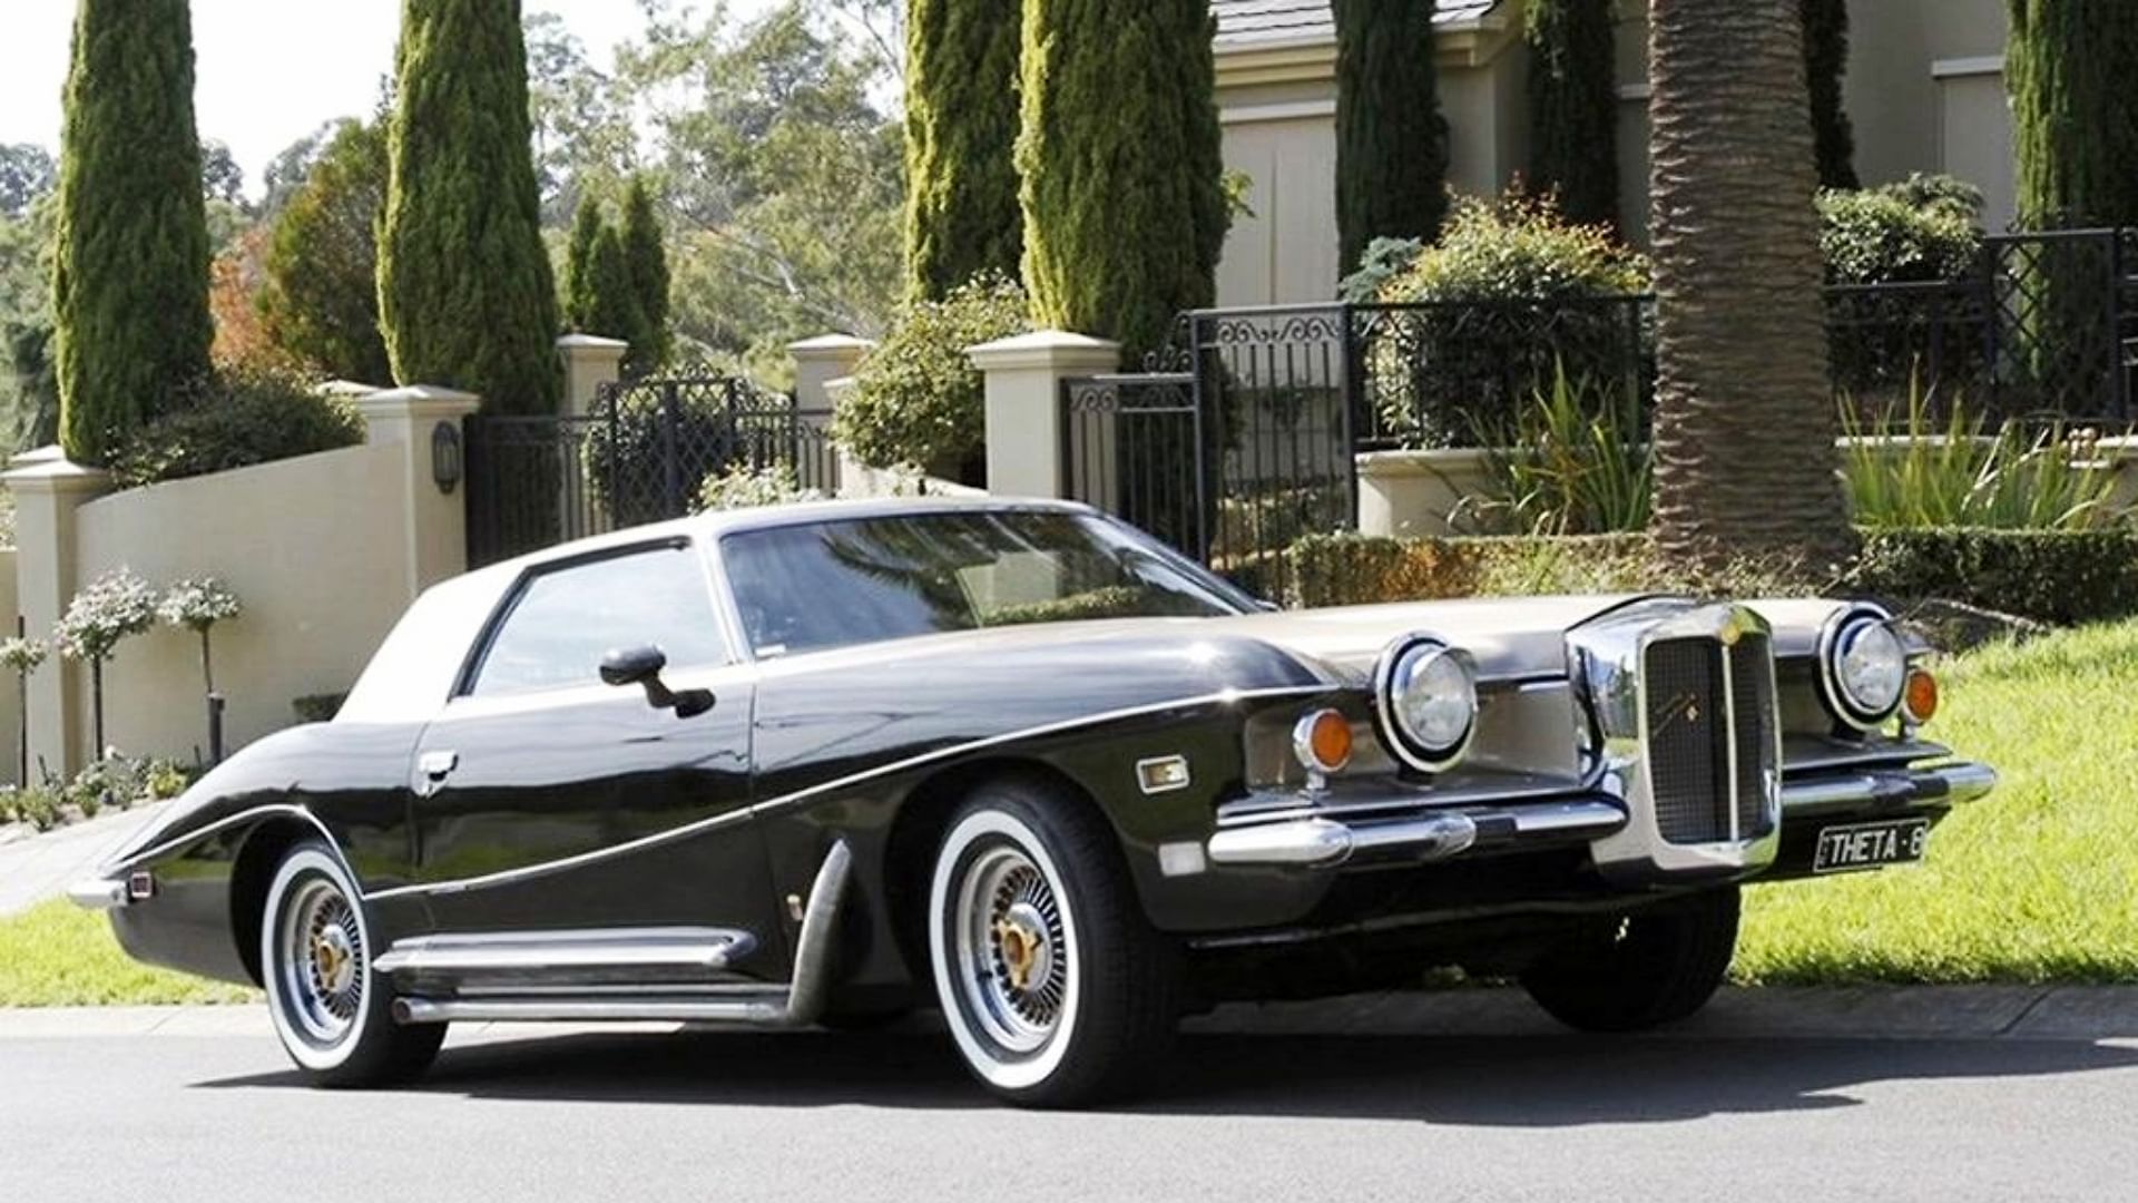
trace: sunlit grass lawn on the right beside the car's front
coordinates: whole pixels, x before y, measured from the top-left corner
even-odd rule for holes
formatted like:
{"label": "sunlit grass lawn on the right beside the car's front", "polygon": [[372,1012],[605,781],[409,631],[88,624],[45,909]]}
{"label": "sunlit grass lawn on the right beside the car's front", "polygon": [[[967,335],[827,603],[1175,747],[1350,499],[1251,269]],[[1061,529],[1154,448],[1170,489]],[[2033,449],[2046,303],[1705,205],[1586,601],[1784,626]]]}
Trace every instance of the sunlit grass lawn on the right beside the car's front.
{"label": "sunlit grass lawn on the right beside the car's front", "polygon": [[1926,734],[2003,777],[1928,863],[1747,897],[1747,983],[2138,983],[2138,623],[1939,672]]}

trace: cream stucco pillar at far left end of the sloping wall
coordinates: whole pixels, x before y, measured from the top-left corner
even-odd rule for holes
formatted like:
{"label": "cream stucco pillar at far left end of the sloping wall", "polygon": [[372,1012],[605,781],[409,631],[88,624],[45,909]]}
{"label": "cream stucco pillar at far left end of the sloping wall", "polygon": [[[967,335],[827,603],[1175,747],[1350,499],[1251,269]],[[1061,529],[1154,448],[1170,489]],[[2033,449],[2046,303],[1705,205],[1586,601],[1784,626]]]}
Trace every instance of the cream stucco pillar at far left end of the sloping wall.
{"label": "cream stucco pillar at far left end of the sloping wall", "polygon": [[[15,599],[30,638],[51,640],[77,587],[77,509],[111,490],[111,473],[68,462],[58,447],[17,456],[0,475],[15,494]],[[6,634],[15,634],[13,627]],[[58,653],[58,649],[53,649]],[[81,768],[88,747],[83,670],[51,655],[30,674],[30,777]],[[13,685],[13,683],[9,683]],[[103,749],[98,749],[103,751]]]}

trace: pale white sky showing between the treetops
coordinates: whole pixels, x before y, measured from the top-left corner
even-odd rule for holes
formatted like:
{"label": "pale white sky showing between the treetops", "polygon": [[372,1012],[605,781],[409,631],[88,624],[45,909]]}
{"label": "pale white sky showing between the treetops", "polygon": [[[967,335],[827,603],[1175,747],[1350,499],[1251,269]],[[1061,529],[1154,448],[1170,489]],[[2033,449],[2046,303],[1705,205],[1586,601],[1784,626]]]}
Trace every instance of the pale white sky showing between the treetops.
{"label": "pale white sky showing between the treetops", "polygon": [[[597,64],[641,28],[637,0],[524,0],[549,11]],[[765,0],[729,4],[742,15]],[[9,54],[0,71],[0,143],[60,146],[73,0],[6,0]],[[400,0],[192,0],[195,120],[222,139],[259,193],[261,169],[334,118],[366,116],[393,68]]]}

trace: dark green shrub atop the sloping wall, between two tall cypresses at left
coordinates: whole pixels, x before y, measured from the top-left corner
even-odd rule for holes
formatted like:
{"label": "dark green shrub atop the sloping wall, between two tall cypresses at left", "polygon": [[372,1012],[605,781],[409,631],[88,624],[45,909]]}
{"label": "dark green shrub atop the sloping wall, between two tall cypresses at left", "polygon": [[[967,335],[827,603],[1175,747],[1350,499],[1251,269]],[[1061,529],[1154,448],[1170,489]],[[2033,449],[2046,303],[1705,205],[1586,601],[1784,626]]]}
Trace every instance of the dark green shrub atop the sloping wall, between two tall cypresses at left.
{"label": "dark green shrub atop the sloping wall, between two tall cypresses at left", "polygon": [[363,420],[299,377],[229,372],[130,435],[111,471],[122,488],[210,475],[363,441]]}

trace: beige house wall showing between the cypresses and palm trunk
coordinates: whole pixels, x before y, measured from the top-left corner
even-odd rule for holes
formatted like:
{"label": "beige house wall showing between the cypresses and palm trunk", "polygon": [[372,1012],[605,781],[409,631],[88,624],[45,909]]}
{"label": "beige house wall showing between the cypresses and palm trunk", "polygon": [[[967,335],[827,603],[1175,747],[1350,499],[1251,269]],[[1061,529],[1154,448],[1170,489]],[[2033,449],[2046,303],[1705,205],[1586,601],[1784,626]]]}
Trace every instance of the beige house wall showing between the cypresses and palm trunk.
{"label": "beige house wall showing between the cypresses and palm trunk", "polygon": [[[2016,208],[2012,116],[2003,94],[2005,0],[1852,0],[1847,109],[1866,184],[1948,171],[1984,191],[1990,229]],[[1443,30],[1441,107],[1450,184],[1505,188],[1529,158],[1520,2],[1488,26]],[[1621,229],[1648,231],[1646,0],[1618,0]],[[1253,186],[1219,265],[1219,304],[1326,302],[1336,261],[1336,83],[1326,43],[1219,56],[1225,165]]]}

